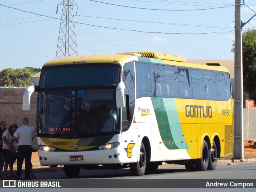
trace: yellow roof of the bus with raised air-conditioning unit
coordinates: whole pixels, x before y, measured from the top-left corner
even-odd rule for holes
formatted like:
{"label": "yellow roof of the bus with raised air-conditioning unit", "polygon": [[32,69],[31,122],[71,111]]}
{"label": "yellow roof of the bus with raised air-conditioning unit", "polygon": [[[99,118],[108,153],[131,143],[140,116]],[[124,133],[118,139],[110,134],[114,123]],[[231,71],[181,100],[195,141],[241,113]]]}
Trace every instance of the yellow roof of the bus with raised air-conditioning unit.
{"label": "yellow roof of the bus with raised air-conditioning unit", "polygon": [[[164,54],[157,52],[123,52],[117,54],[98,54],[98,55],[83,55],[71,56],[50,60],[44,66],[58,66],[71,64],[92,64],[92,63],[119,63],[121,65],[129,61],[144,61],[154,62],[159,64],[168,64],[174,66],[183,66],[190,68],[201,68],[206,70],[218,70],[229,72],[226,67],[221,66],[220,63],[207,64],[192,64],[188,63],[185,58],[178,55]],[[44,67],[43,66],[43,67]]]}

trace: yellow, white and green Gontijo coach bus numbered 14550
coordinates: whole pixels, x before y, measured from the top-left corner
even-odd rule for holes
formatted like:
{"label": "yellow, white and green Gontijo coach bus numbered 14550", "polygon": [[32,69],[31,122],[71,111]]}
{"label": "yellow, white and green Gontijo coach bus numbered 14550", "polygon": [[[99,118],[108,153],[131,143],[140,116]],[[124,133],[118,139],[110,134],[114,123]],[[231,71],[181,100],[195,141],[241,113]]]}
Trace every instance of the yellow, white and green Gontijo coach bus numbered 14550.
{"label": "yellow, white and green Gontijo coach bus numbered 14550", "polygon": [[219,63],[130,52],[72,56],[42,67],[38,92],[40,164],[80,169],[154,172],[162,162],[189,171],[214,170],[232,154],[230,74]]}

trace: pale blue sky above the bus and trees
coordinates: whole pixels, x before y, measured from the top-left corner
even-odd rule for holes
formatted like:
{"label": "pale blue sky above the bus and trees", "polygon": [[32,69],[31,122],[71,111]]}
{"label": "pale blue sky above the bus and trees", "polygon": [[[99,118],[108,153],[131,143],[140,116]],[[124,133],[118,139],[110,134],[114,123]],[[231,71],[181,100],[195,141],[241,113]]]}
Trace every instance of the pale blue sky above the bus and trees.
{"label": "pale blue sky above the bus and trees", "polygon": [[[58,14],[56,8],[60,2],[0,0],[0,71],[42,68],[56,58],[62,6],[58,6]],[[78,55],[148,51],[186,59],[234,59],[235,0],[74,2],[78,5],[74,7]],[[244,0],[242,21],[255,13],[256,1]],[[243,31],[255,23],[256,17]]]}

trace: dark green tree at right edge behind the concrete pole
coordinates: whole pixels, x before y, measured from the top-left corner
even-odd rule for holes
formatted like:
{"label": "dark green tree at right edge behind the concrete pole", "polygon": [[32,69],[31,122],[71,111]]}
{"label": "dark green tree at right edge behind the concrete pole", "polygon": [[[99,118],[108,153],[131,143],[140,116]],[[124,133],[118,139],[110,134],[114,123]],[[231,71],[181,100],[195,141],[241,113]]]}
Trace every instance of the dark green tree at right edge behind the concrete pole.
{"label": "dark green tree at right edge behind the concrete pole", "polygon": [[[244,91],[256,104],[256,29],[248,28],[242,34]],[[231,50],[234,52],[234,44]]]}

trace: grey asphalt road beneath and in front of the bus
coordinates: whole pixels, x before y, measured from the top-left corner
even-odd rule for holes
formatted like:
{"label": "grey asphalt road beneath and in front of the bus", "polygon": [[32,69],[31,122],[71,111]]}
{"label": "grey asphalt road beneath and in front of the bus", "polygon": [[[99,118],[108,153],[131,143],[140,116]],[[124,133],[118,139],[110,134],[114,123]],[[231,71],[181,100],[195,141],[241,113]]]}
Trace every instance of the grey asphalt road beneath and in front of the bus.
{"label": "grey asphalt road beneath and in front of the bus", "polygon": [[[70,180],[66,180],[66,176],[62,168],[54,168],[52,171],[48,172],[36,172],[37,180],[56,180],[56,179],[64,179],[64,181],[70,182]],[[93,179],[93,180],[88,180]],[[178,179],[178,180],[174,180]],[[182,181],[180,179],[196,179],[200,180],[221,180],[223,182],[233,181],[236,182],[236,179],[254,179],[255,186],[254,188],[182,188]],[[82,188],[86,182],[95,182],[97,181],[100,186],[101,182],[110,182],[112,183],[122,183],[126,180],[131,180],[130,188]],[[166,191],[225,191],[225,192],[234,192],[234,191],[255,191],[256,188],[256,162],[244,162],[244,163],[234,163],[231,165],[217,165],[216,170],[214,171],[205,171],[205,172],[187,172],[185,166],[160,166],[156,174],[148,174],[143,177],[134,177],[131,176],[129,169],[124,170],[81,170],[78,178],[71,180],[75,183],[75,186],[78,188],[40,188],[40,189],[24,189],[24,188],[2,188],[1,192],[91,192],[91,191],[99,191],[99,192],[134,192],[134,191],[149,191],[149,192],[166,192]],[[166,181],[166,182],[180,182],[180,188],[136,188],[132,183],[143,182],[144,187],[150,186],[155,181]],[[193,180],[194,181],[194,180]],[[148,186],[147,186],[148,184]],[[81,188],[79,188],[81,187]]]}

